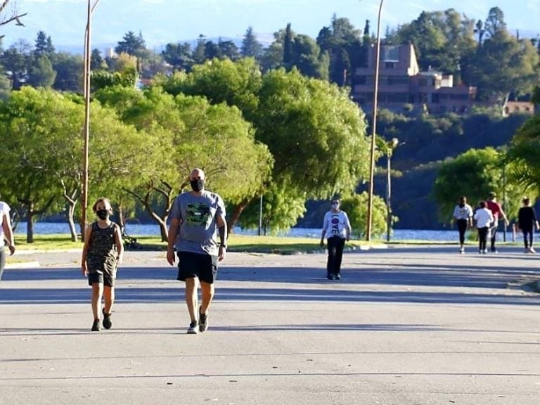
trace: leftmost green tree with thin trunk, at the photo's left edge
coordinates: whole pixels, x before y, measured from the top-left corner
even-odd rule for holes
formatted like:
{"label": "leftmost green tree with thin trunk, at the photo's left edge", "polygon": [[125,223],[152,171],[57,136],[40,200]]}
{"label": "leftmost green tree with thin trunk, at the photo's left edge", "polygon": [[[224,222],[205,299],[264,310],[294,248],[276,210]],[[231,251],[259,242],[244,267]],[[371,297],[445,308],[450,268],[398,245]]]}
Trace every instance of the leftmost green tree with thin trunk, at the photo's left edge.
{"label": "leftmost green tree with thin trunk, at the photo's left edge", "polygon": [[55,103],[30,87],[13,91],[0,105],[1,188],[8,199],[25,209],[27,243],[34,241],[34,220],[59,207],[60,184],[51,173],[58,169],[53,129],[62,113]]}

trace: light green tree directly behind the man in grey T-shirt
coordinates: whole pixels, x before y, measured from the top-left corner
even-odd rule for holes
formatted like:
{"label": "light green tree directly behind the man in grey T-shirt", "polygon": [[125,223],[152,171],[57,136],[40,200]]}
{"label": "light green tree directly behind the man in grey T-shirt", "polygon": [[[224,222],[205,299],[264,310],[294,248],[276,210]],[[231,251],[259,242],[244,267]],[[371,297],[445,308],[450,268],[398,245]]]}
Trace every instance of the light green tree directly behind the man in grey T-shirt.
{"label": "light green tree directly behind the man in grey T-shirt", "polygon": [[[193,167],[205,169],[208,187],[231,203],[257,193],[269,175],[271,155],[255,141],[238,108],[181,94],[173,98],[159,87],[143,93],[108,88],[96,97],[114,105],[124,122],[153,134],[161,161],[153,165],[155,173],[144,178],[144,186],[129,192],[160,224],[164,240],[172,198],[188,186]],[[159,211],[153,207],[155,198]]]}

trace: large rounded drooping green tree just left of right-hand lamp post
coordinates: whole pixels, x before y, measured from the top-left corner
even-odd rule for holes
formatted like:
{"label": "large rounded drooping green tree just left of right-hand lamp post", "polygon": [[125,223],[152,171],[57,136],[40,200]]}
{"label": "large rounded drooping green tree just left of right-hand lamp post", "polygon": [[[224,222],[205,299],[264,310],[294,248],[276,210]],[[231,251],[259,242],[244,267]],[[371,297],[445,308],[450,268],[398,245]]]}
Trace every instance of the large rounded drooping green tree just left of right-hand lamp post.
{"label": "large rounded drooping green tree just left of right-hand lamp post", "polygon": [[276,70],[263,77],[257,111],[257,139],[275,159],[269,190],[291,198],[329,198],[352,193],[365,178],[364,115],[347,91],[304,77],[297,70]]}

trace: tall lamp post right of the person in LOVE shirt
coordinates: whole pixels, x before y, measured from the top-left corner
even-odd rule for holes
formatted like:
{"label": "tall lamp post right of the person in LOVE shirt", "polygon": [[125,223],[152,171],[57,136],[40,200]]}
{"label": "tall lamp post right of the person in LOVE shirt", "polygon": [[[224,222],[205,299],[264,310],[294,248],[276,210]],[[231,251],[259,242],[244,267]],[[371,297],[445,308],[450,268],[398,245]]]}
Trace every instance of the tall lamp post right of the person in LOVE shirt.
{"label": "tall lamp post right of the person in LOVE shirt", "polygon": [[377,44],[375,47],[375,77],[373,84],[373,122],[371,124],[371,150],[369,159],[369,189],[368,217],[366,220],[366,240],[371,240],[371,222],[373,219],[373,177],[375,176],[375,134],[377,133],[377,103],[379,93],[379,62],[380,62],[380,15],[383,11],[384,0],[380,0],[377,18]]}

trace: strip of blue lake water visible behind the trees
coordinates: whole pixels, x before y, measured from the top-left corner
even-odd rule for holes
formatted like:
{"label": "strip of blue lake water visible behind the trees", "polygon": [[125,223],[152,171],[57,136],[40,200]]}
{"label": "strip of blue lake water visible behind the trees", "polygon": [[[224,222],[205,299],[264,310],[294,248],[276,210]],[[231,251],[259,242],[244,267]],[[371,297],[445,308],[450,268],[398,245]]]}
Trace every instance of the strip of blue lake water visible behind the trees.
{"label": "strip of blue lake water visible behind the trees", "polygon": [[[79,231],[79,226],[77,226]],[[235,233],[244,235],[257,235],[257,230],[242,230],[236,228]],[[36,222],[34,224],[34,233],[36,235],[46,235],[51,233],[65,233],[69,235],[70,228],[65,222]],[[131,236],[159,236],[160,229],[155,224],[127,224],[126,233]],[[499,232],[499,240],[503,239],[502,232]],[[20,222],[15,230],[18,236],[26,235],[26,223]],[[316,228],[293,228],[284,236],[305,236],[309,238],[320,238],[321,229]],[[511,240],[511,233],[506,234],[506,240]],[[458,239],[458,231],[427,231],[421,229],[394,229],[391,240],[433,240],[434,242],[455,242]],[[386,235],[380,237],[380,240],[386,240]]]}

